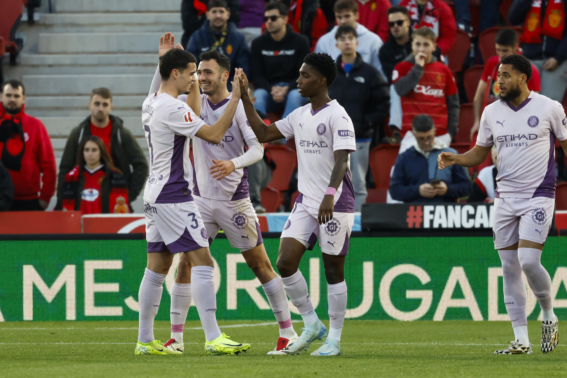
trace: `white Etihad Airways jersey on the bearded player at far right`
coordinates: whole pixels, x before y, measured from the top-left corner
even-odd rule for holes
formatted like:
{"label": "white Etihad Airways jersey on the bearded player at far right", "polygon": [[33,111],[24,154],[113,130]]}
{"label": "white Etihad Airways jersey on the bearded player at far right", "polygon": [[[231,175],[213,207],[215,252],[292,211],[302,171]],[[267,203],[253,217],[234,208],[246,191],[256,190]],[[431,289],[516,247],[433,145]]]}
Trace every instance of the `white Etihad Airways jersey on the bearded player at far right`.
{"label": "white Etihad Airways jersey on the bearded player at far right", "polygon": [[496,145],[496,198],[555,198],[555,139],[567,139],[565,110],[531,92],[519,105],[495,101],[484,108],[476,144]]}

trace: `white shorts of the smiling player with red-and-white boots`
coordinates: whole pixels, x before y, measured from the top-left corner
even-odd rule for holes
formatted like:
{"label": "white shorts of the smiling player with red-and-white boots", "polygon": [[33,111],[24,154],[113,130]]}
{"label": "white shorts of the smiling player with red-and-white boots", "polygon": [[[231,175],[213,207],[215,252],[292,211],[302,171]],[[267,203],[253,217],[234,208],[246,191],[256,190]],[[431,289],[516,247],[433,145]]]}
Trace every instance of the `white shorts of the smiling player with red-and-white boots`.
{"label": "white shorts of the smiling player with red-and-white boots", "polygon": [[240,252],[264,243],[260,222],[249,197],[234,201],[220,201],[204,197],[193,197],[211,243],[222,228],[230,245]]}

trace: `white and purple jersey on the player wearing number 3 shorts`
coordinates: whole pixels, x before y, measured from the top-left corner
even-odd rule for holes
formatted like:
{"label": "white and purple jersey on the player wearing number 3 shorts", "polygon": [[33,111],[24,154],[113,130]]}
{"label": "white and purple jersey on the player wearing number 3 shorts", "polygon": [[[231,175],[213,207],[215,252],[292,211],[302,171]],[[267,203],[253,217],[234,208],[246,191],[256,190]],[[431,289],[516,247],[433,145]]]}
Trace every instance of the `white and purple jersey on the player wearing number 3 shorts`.
{"label": "white and purple jersey on the player wearing number 3 shorts", "polygon": [[205,122],[183,101],[166,93],[159,96],[152,93],[143,101],[142,125],[150,148],[150,177],[143,193],[144,201],[192,201],[189,138],[193,138]]}

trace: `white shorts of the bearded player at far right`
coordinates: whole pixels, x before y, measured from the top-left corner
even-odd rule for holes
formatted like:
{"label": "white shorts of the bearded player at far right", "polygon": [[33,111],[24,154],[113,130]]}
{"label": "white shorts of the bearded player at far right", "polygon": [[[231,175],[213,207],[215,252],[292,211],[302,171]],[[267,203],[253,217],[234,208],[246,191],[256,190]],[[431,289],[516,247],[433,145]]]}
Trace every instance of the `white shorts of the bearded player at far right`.
{"label": "white shorts of the bearded player at far right", "polygon": [[551,229],[555,198],[494,198],[494,249],[520,239],[544,244]]}

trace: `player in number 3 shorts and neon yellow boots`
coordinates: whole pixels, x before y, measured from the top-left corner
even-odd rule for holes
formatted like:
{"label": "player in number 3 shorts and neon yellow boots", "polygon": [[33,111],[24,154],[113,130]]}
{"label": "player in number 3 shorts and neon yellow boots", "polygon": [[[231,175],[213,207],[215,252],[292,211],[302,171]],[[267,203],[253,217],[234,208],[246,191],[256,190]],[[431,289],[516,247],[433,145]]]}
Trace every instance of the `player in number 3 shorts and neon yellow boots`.
{"label": "player in number 3 shorts and neon yellow boots", "polygon": [[150,148],[150,177],[143,196],[148,253],[138,292],[139,328],[135,354],[181,354],[156,340],[153,328],[163,282],[175,253],[184,253],[191,261],[192,294],[205,331],[206,354],[238,354],[250,345],[227,338],[217,325],[213,258],[205,225],[189,189],[193,179],[189,138],[221,142],[239,103],[239,79],[234,80],[237,90],[233,90],[226,112],[212,126],[205,124],[187,104],[177,99],[180,94],[190,92],[189,96],[198,104],[199,92],[194,84],[196,58],[183,48],[174,49],[174,45],[171,33],[161,37],[161,83],[158,91],[150,91],[142,105],[142,124]]}

